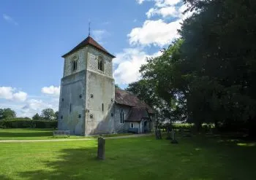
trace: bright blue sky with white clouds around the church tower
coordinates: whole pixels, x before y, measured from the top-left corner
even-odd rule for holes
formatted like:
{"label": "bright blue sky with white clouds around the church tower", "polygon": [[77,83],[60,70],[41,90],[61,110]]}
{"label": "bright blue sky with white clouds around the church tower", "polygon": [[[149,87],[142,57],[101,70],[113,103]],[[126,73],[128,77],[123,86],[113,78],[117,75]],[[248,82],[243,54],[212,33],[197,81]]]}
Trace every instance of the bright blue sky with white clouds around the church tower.
{"label": "bright blue sky with white clouds around the church tower", "polygon": [[58,109],[61,55],[91,36],[110,53],[121,87],[140,78],[146,57],[178,37],[180,0],[0,1],[0,108],[31,117]]}

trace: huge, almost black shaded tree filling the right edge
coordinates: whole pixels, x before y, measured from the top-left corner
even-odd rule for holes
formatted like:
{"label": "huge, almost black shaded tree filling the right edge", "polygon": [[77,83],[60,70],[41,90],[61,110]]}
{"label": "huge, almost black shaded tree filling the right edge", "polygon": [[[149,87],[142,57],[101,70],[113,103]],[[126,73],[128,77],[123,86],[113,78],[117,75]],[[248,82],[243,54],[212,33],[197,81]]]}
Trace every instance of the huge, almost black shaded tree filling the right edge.
{"label": "huge, almost black shaded tree filling the right edge", "polygon": [[206,78],[209,84],[200,88],[203,95],[207,94],[204,101],[208,110],[205,108],[203,114],[221,114],[214,119],[243,121],[255,127],[256,1],[184,2],[196,13],[184,20],[181,50],[187,62],[194,64],[197,80]]}

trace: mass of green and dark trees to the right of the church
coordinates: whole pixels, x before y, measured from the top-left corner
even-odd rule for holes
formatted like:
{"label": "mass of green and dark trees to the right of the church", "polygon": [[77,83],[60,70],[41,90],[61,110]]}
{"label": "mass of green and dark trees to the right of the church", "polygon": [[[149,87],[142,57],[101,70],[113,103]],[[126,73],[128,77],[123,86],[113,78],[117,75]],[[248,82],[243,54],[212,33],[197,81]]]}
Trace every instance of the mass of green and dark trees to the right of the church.
{"label": "mass of green and dark trees to the right of the church", "polygon": [[[184,0],[191,17],[127,87],[162,122],[246,128],[256,138],[256,1]],[[227,128],[228,129],[228,128]]]}

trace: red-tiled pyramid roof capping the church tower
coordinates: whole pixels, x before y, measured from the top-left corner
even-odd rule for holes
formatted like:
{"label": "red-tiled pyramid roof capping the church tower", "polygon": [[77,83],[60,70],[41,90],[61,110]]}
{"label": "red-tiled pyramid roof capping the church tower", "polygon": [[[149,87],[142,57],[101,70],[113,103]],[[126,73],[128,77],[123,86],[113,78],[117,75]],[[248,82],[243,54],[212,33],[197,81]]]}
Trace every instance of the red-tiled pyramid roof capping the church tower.
{"label": "red-tiled pyramid roof capping the church tower", "polygon": [[61,57],[65,58],[65,56],[71,54],[72,52],[75,52],[76,50],[79,50],[81,47],[85,47],[86,45],[91,45],[93,47],[96,47],[98,50],[105,52],[107,55],[110,55],[112,58],[116,58],[114,55],[111,55],[110,52],[105,50],[105,48],[102,47],[99,43],[97,43],[91,36],[88,36],[86,39],[83,40],[83,42],[80,42],[80,44],[78,44],[76,47],[74,47],[72,50],[62,55]]}

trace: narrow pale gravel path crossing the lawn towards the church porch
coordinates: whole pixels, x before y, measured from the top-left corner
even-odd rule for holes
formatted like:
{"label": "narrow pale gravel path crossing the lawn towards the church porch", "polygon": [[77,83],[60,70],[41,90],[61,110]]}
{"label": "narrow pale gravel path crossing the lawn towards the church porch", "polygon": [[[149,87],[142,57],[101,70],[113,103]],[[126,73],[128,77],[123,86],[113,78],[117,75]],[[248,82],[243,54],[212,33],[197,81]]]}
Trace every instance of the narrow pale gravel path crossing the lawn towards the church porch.
{"label": "narrow pale gravel path crossing the lawn towards the church porch", "polygon": [[[132,134],[127,136],[113,136],[105,137],[105,139],[112,138],[138,138],[142,136],[152,136],[152,134]],[[65,139],[38,139],[38,140],[0,140],[0,143],[27,143],[27,142],[55,142],[55,141],[91,141],[95,138],[65,138]]]}

